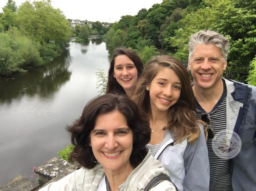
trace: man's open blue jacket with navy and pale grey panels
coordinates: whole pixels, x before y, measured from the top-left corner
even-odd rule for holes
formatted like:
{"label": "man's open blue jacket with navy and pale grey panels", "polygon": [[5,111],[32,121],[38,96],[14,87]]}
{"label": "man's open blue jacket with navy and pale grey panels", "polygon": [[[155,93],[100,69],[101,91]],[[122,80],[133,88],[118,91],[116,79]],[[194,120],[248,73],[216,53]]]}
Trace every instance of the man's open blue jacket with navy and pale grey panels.
{"label": "man's open blue jacket with navy and pale grey panels", "polygon": [[241,138],[241,151],[231,159],[234,191],[256,190],[256,87],[225,79],[226,125]]}

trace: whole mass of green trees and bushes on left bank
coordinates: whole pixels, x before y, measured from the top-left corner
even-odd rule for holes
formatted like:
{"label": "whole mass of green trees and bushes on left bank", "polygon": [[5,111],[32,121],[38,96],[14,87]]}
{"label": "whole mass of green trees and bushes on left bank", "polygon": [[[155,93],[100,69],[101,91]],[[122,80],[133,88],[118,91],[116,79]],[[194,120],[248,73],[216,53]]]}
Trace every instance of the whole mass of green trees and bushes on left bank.
{"label": "whole mass of green trees and bushes on left bank", "polygon": [[51,0],[28,1],[19,7],[8,0],[0,14],[0,75],[24,72],[61,55],[71,29]]}

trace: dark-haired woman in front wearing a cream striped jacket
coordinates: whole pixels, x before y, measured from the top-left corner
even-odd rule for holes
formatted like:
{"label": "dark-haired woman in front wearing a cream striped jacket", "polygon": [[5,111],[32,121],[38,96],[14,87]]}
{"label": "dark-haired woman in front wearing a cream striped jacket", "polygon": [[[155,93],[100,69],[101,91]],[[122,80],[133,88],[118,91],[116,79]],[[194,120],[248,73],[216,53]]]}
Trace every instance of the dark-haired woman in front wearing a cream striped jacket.
{"label": "dark-haired woman in front wearing a cream striped jacket", "polygon": [[[169,176],[146,147],[150,140],[147,118],[125,95],[105,94],[91,100],[67,130],[75,146],[70,157],[83,168],[42,191],[139,191],[156,176]],[[176,188],[164,180],[150,189],[153,190]]]}

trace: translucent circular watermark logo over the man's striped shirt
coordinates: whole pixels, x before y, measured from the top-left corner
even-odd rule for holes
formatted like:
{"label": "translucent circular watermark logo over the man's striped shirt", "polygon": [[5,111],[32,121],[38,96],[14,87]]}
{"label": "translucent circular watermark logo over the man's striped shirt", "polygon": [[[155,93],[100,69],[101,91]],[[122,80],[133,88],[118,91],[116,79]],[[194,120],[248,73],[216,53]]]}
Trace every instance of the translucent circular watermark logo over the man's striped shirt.
{"label": "translucent circular watermark logo over the man's striped shirt", "polygon": [[242,142],[239,135],[231,130],[219,131],[212,140],[212,148],[221,159],[232,159],[241,150]]}

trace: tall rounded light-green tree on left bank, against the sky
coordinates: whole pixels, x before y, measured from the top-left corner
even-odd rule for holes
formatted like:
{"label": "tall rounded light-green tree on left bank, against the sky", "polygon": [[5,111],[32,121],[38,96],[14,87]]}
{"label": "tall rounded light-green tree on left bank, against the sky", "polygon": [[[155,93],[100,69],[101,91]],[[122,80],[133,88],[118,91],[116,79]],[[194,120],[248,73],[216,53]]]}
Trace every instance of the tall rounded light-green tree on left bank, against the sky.
{"label": "tall rounded light-green tree on left bank, against the sky", "polygon": [[54,42],[59,50],[68,46],[71,28],[62,11],[51,6],[51,0],[22,3],[17,12],[17,26],[41,44]]}

